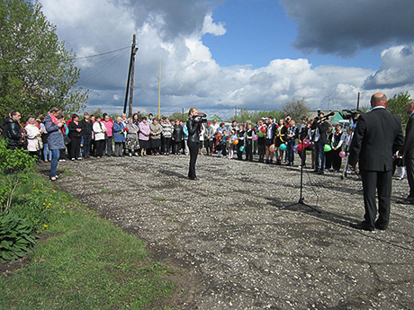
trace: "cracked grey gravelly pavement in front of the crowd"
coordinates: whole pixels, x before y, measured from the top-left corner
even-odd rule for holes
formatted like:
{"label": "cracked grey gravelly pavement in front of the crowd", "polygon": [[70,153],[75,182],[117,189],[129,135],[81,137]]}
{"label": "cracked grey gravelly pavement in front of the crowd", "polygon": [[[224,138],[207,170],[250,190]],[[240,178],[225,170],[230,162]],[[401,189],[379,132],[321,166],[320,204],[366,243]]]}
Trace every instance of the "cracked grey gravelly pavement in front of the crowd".
{"label": "cracked grey gravelly pavement in front of the crowd", "polygon": [[[396,203],[386,232],[348,227],[363,217],[361,182],[298,167],[200,156],[59,163],[64,190],[148,242],[181,270],[180,309],[412,309],[413,206]],[[46,165],[45,165],[46,167]]]}

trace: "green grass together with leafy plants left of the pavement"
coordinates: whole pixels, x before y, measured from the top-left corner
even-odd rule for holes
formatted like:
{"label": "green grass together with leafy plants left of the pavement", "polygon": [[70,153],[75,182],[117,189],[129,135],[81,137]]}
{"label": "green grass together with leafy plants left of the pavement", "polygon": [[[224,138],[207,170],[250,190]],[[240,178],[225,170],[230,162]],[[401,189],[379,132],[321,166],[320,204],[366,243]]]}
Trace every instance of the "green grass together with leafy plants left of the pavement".
{"label": "green grass together with leafy plants left of the pavement", "polygon": [[[151,261],[143,242],[54,190],[26,152],[17,152],[20,171],[4,168],[4,142],[0,153],[0,264],[22,265],[0,274],[2,309],[171,309],[172,270]],[[3,189],[14,185],[9,198]]]}

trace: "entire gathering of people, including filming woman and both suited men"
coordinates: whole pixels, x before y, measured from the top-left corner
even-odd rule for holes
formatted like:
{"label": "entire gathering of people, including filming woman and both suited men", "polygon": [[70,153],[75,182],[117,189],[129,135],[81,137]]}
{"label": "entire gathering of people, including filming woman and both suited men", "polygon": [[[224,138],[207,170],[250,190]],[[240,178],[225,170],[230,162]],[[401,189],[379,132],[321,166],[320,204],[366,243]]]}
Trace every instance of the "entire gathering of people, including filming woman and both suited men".
{"label": "entire gathering of people, including filming woman and both suited men", "polygon": [[[276,165],[294,165],[295,153],[300,164],[306,164],[306,154],[311,153],[311,168],[314,173],[323,174],[329,169],[339,172],[344,157],[348,162],[343,169],[349,172],[359,169],[363,181],[365,220],[352,223],[356,229],[373,231],[385,230],[390,217],[392,155],[399,155],[407,161],[407,175],[410,195],[401,201],[414,204],[414,101],[407,104],[410,120],[404,141],[401,120],[385,111],[387,98],[375,93],[371,98],[372,111],[358,117],[354,115],[347,128],[340,124],[329,124],[329,115],[322,112],[313,120],[301,118],[301,124],[290,116],[276,121],[272,116],[257,123],[238,124],[236,120],[226,127],[217,120],[205,119],[205,114],[191,108],[188,120],[158,120],[152,114],[147,117],[134,114],[130,119],[121,114],[112,120],[107,114],[89,115],[84,113],[79,120],[73,114],[65,120],[62,110],[53,108],[49,113],[28,115],[23,126],[19,111],[10,111],[0,126],[7,139],[7,148],[25,148],[44,162],[50,161],[49,177],[58,180],[58,160],[72,161],[88,159],[91,156],[157,156],[190,155],[188,177],[198,180],[195,173],[197,155],[216,155],[221,158],[253,161]],[[387,124],[387,127],[383,126]],[[412,131],[412,132],[411,132]],[[308,152],[309,151],[309,152]],[[404,175],[404,163],[399,174]],[[375,204],[375,189],[378,191],[379,206]]]}

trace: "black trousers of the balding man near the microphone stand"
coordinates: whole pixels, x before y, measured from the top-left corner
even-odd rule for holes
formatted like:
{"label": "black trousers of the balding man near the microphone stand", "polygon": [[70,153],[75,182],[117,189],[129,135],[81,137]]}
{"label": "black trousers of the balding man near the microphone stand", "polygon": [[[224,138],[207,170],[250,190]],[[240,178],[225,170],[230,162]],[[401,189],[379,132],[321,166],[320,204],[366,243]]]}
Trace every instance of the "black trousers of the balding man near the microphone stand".
{"label": "black trousers of the balding man near the microphone stand", "polygon": [[387,228],[390,221],[392,171],[376,172],[361,170],[364,190],[365,226],[373,228],[377,213],[375,203],[375,190],[378,191],[378,213],[376,223],[383,229]]}

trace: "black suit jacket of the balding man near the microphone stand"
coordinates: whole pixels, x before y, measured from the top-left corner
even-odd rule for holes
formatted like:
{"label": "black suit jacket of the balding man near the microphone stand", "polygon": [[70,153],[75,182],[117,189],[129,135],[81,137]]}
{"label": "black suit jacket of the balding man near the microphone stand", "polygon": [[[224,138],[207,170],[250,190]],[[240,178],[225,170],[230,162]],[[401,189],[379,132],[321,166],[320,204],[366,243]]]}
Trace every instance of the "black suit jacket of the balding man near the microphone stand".
{"label": "black suit jacket of the balding man near the microphone stand", "polygon": [[358,118],[351,142],[349,164],[359,158],[361,170],[385,172],[392,170],[392,155],[403,142],[401,120],[383,108],[377,108]]}

